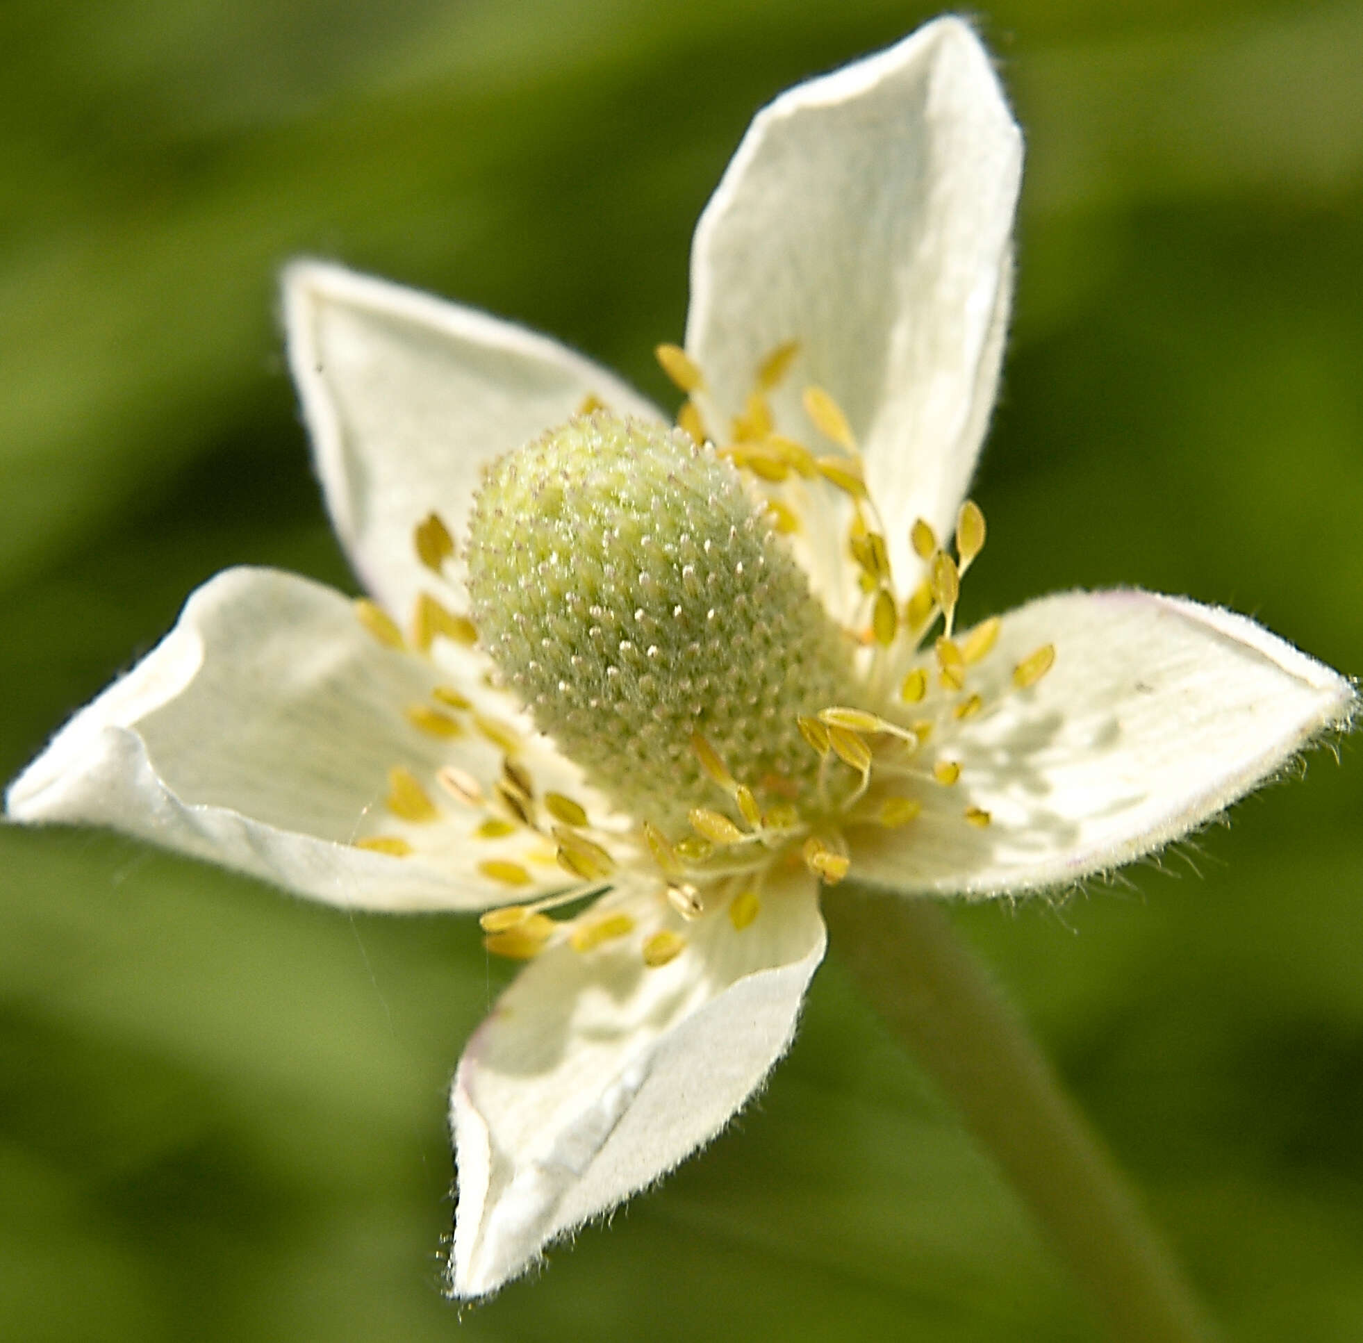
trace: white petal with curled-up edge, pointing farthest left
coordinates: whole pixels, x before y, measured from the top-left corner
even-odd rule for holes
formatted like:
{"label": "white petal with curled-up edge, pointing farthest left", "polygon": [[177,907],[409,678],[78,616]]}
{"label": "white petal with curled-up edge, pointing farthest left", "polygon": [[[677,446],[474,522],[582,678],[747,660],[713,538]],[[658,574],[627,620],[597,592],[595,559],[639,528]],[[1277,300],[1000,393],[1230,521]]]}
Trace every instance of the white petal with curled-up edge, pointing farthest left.
{"label": "white petal with curled-up edge, pointing farthest left", "polygon": [[[57,734],[10,788],[7,810],[30,824],[108,825],[349,908],[478,909],[563,888],[552,854],[526,888],[481,875],[484,859],[519,859],[525,837],[474,841],[480,815],[453,800],[424,825],[384,814],[395,765],[438,806],[442,764],[496,777],[500,753],[474,732],[433,739],[403,717],[446,678],[382,646],[328,588],[229,570]],[[548,787],[590,800],[542,739],[521,758]],[[353,845],[376,830],[410,839],[417,854]]]}

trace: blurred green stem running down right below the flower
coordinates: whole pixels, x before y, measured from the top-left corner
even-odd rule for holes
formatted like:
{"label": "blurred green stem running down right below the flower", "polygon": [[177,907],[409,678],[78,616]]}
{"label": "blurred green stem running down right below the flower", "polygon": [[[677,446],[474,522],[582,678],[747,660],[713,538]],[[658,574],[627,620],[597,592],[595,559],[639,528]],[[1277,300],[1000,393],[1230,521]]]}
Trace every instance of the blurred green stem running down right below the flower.
{"label": "blurred green stem running down right below the flower", "polygon": [[1127,1343],[1206,1343],[1213,1331],[1017,1014],[934,900],[852,886],[823,901],[863,991],[1003,1167]]}

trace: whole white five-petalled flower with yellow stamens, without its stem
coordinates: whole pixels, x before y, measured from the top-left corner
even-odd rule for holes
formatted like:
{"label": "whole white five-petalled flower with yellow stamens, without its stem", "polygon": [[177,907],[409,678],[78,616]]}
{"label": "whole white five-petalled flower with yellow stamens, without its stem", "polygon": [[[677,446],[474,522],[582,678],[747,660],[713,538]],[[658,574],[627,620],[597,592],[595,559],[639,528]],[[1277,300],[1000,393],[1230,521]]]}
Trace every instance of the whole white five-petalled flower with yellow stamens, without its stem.
{"label": "whole white five-petalled flower with yellow stamens, without its stem", "polygon": [[[18,821],[110,825],[343,908],[484,911],[489,948],[529,960],[454,1081],[459,1297],[525,1271],[754,1093],[823,956],[821,879],[943,896],[1069,885],[1187,833],[1352,713],[1344,679],[1250,620],[1142,592],[1054,596],[946,637],[983,544],[961,500],[998,379],[1020,168],[988,57],[955,19],[763,110],[696,229],[687,354],[662,353],[691,391],[682,423],[718,451],[647,431],[657,409],[552,341],[296,265],[293,372],[375,601],[221,574],[8,792]],[[541,439],[585,405],[635,423]],[[562,702],[557,672],[514,652],[526,545],[547,584],[579,564],[615,581],[596,536],[568,529],[560,554],[538,513],[488,521],[525,457],[497,468],[463,544],[489,464],[536,439],[534,469],[562,453],[567,474],[589,449],[675,454],[686,488],[701,480],[724,519],[737,510],[717,544],[746,537],[763,584],[785,575],[755,585],[750,563],[731,582],[746,562],[707,571],[667,547],[661,567],[631,571],[677,593],[720,584],[731,634],[694,644],[703,686],[679,690],[672,664],[661,689],[645,661],[630,669],[657,649],[609,622],[653,619],[646,603],[593,608],[605,633],[574,623],[572,590],[562,622],[540,612],[556,631],[545,656],[582,667],[559,678]],[[672,525],[679,504],[658,499]],[[574,496],[568,515],[598,504]],[[709,552],[709,515],[683,517],[673,549]],[[500,676],[473,642],[470,575]],[[786,623],[756,597],[784,601]],[[821,642],[825,624],[846,633]],[[600,664],[582,661],[589,635],[609,645]],[[624,689],[572,699],[612,667]],[[758,678],[752,702],[726,690],[740,672]],[[677,721],[653,758],[662,701]]]}

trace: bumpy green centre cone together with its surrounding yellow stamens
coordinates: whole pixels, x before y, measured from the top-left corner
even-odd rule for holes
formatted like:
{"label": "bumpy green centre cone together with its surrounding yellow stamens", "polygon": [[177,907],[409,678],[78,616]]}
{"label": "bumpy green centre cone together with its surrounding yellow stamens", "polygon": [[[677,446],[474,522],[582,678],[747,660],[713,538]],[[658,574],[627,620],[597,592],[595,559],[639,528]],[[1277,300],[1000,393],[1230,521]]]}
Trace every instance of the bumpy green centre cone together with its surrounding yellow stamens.
{"label": "bumpy green centre cone together with its surrounding yellow stamens", "polygon": [[[855,864],[857,828],[908,826],[925,788],[960,784],[961,764],[930,746],[947,736],[943,727],[998,705],[970,678],[995,648],[999,619],[954,634],[961,579],[985,540],[979,507],[960,510],[954,554],[915,521],[921,578],[901,601],[841,409],[818,386],[800,398],[834,453],[777,429],[770,394],[799,348],[763,360],[743,412],[718,436],[702,371],[676,346],[657,353],[686,393],[676,431],[616,420],[589,398],[564,429],[492,468],[462,555],[438,514],[416,526],[417,559],[446,600],[423,592],[409,634],[357,603],[391,648],[438,665],[442,644],[491,656],[484,702],[436,684],[405,717],[427,738],[480,739],[500,757],[495,774],[446,764],[432,788],[397,765],[384,798],[397,833],[356,843],[406,856],[454,804],[463,841],[492,849],[474,864],[481,877],[508,897],[545,892],[483,916],[497,954],[523,959],[557,942],[587,954],[630,941],[660,967],[686,949],[688,922],[724,909],[736,931],[750,927],[773,875],[803,867],[836,885]],[[845,518],[860,593],[845,629],[778,540],[799,536],[819,491]],[[465,589],[472,614],[453,609]],[[1054,659],[1052,645],[1036,649],[1011,669],[1010,687],[1029,689]],[[604,794],[608,814],[593,818],[567,792],[537,788],[526,735],[491,713],[488,698],[512,714],[526,709]],[[975,804],[960,814],[991,824]],[[646,927],[592,903],[622,869],[635,881],[656,874]]]}

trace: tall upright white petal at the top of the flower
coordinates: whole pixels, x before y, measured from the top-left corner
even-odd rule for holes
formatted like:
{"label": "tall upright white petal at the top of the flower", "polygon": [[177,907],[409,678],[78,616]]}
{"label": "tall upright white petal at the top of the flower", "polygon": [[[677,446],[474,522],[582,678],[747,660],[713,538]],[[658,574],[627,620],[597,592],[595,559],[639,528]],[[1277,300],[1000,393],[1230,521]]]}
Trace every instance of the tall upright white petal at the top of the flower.
{"label": "tall upright white petal at the top of the flower", "polygon": [[714,399],[733,413],[797,339],[778,427],[816,440],[807,383],[838,401],[901,586],[909,524],[953,525],[987,427],[1021,165],[987,53],[939,19],[761,112],[696,228],[687,348]]}

